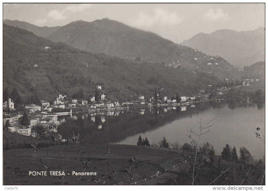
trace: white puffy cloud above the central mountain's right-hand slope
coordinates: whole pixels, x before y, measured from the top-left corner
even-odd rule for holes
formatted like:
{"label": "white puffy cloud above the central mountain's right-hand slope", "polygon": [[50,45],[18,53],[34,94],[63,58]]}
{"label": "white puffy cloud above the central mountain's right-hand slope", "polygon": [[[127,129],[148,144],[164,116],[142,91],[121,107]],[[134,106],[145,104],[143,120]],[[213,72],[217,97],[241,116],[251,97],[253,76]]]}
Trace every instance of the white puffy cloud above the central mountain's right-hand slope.
{"label": "white puffy cloud above the central mountain's right-hand slope", "polygon": [[182,22],[182,17],[178,16],[175,12],[168,12],[161,8],[157,8],[153,15],[149,15],[144,12],[138,13],[138,17],[133,20],[135,26],[147,26],[158,24],[161,26],[164,25],[177,25]]}

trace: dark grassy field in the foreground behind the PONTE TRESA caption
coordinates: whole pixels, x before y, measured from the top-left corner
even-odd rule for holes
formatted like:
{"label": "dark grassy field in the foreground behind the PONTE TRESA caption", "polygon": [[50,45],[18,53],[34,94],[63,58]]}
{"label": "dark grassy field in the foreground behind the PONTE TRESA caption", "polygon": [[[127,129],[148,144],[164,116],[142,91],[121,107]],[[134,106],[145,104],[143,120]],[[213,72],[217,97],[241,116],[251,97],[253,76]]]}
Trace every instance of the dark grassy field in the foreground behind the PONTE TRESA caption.
{"label": "dark grassy field in the foreground behind the PONTE TRESA caption", "polygon": [[[38,147],[38,144],[37,144]],[[109,145],[110,153],[107,154],[107,145],[76,145],[80,152],[85,149],[85,153],[79,156],[75,145],[59,145],[40,148],[34,152],[34,148],[20,148],[3,151],[3,184],[4,185],[96,185],[113,184],[109,179],[105,180],[102,175],[106,172],[106,178],[111,172],[116,171],[116,181],[129,184],[129,175],[121,172],[123,165],[126,170],[130,170],[128,159],[136,158],[140,166],[132,170],[133,179],[131,184],[144,181],[145,178],[156,176],[165,172],[165,169],[180,163],[176,151],[166,148],[142,147],[133,145]],[[62,153],[62,154],[61,154]],[[61,162],[61,156],[63,163]],[[83,160],[92,160],[85,169]],[[29,176],[29,171],[63,171],[65,176],[62,180],[59,176]],[[96,176],[83,175],[75,176],[72,172],[96,172]],[[15,174],[14,174],[15,173]],[[70,175],[68,175],[68,173]],[[80,180],[79,180],[80,178]]]}

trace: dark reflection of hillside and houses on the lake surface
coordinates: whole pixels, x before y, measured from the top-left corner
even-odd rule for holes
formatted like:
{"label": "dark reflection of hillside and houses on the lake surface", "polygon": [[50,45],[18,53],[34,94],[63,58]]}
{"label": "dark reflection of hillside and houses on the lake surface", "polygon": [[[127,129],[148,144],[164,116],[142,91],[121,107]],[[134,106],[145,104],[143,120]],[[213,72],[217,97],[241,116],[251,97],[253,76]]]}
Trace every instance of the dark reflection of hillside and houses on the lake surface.
{"label": "dark reflection of hillside and houses on the lake surface", "polygon": [[[147,137],[149,137],[150,132],[154,132],[159,128],[165,129],[168,124],[173,123],[175,120],[178,121],[179,124],[181,120],[186,120],[185,126],[187,126],[187,123],[192,121],[192,117],[202,115],[203,117],[208,116],[210,119],[211,116],[215,117],[217,110],[226,110],[227,108],[230,110],[244,109],[243,112],[245,114],[240,114],[240,116],[237,116],[239,118],[237,119],[237,122],[239,122],[238,125],[241,125],[242,122],[240,121],[245,120],[244,118],[247,117],[247,111],[255,109],[260,110],[261,113],[264,113],[264,101],[254,102],[247,100],[217,100],[187,106],[155,106],[142,109],[135,108],[129,111],[122,110],[100,113],[80,113],[76,115],[73,114],[71,116],[65,116],[65,123],[60,126],[58,132],[64,139],[67,139],[68,137],[70,138],[74,131],[75,134],[79,133],[80,137],[83,138],[82,142],[84,143],[105,144],[107,140],[106,129],[108,128],[109,143],[124,143],[124,140],[128,139],[128,137],[133,137],[134,139],[139,134],[146,134]],[[230,121],[228,118],[225,119],[225,116],[222,116],[221,118]],[[264,123],[264,120],[265,119],[263,119],[261,123]],[[234,125],[237,122],[234,121]],[[255,121],[252,120],[252,127],[255,127],[255,125]],[[168,131],[169,130],[165,129],[161,136],[164,136],[164,133]],[[168,133],[173,134],[173,132]],[[185,133],[183,133],[183,136],[185,136]],[[239,134],[236,134],[236,136],[239,136]],[[151,139],[154,138],[152,137]],[[157,143],[159,140],[149,141]],[[136,140],[125,143],[135,144],[135,142]]]}

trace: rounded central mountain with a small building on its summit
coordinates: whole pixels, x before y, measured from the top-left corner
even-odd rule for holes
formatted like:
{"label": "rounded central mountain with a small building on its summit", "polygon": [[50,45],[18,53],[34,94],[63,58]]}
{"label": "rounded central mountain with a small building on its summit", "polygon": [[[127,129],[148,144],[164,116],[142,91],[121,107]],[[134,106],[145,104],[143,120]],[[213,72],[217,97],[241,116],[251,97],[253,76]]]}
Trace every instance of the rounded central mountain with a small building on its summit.
{"label": "rounded central mountain with a small building on its summit", "polygon": [[[37,26],[25,29],[38,35],[32,30],[33,27]],[[165,65],[175,63],[192,71],[213,72],[219,79],[236,76],[232,72],[235,70],[234,66],[222,57],[207,56],[201,51],[177,45],[151,32],[138,30],[110,19],[93,22],[78,20],[47,33],[44,37],[56,43],[66,43],[82,51],[105,53],[138,63]],[[218,63],[218,66],[213,68],[215,65],[207,65],[211,61]]]}

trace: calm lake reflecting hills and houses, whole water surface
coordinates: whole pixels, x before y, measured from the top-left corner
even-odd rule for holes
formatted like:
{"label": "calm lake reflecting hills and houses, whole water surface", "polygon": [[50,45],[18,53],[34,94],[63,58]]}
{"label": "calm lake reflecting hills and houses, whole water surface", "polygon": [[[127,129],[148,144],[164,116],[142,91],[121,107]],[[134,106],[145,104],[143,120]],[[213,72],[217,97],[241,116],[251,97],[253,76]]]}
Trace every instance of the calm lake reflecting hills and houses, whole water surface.
{"label": "calm lake reflecting hills and houses, whole water surface", "polygon": [[136,145],[139,135],[144,139],[147,137],[150,143],[157,143],[164,136],[170,143],[190,143],[189,131],[198,133],[199,122],[204,124],[214,119],[201,143],[209,142],[217,154],[222,152],[225,144],[235,146],[238,155],[242,146],[256,159],[265,154],[264,143],[255,135],[257,127],[265,135],[265,104],[260,101],[209,101],[184,107],[79,113],[59,119],[65,120],[58,130],[64,139],[70,138],[74,132],[79,133],[81,142],[86,144],[107,144],[108,137],[109,144],[127,145]]}

